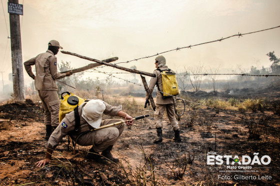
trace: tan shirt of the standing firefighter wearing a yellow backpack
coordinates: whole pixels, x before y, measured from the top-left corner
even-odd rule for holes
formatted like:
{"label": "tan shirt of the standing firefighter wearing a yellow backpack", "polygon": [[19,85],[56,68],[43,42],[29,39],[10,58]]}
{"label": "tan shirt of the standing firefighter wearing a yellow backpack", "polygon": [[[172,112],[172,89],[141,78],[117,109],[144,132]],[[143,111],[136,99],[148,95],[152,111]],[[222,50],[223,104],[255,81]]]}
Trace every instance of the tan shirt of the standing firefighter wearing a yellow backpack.
{"label": "tan shirt of the standing firefighter wearing a yellow backpack", "polygon": [[[168,70],[167,66],[162,66],[159,67],[160,70]],[[173,70],[171,70],[171,72],[174,72]],[[162,77],[161,77],[161,73],[159,72],[159,70],[155,69],[153,71],[153,73],[156,75],[156,77],[151,77],[150,81],[149,81],[149,91],[150,93],[152,93],[154,86],[156,85],[156,82],[159,86],[159,91],[162,92]],[[156,104],[173,104],[173,98],[169,97],[169,98],[165,98],[163,99],[161,93],[157,90],[156,92]],[[146,94],[146,99],[148,99],[148,95]]]}

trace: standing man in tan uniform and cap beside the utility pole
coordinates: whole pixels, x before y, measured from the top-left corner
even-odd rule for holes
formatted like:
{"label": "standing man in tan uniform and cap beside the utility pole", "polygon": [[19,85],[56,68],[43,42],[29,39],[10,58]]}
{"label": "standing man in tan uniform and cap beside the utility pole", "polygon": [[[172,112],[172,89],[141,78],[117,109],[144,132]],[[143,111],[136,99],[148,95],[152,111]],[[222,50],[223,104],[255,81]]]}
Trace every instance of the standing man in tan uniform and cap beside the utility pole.
{"label": "standing man in tan uniform and cap beside the utility pole", "polygon": [[[38,91],[39,98],[42,102],[46,131],[45,140],[48,140],[51,135],[52,128],[55,128],[59,124],[58,113],[60,102],[57,96],[58,88],[55,79],[72,74],[71,71],[65,74],[57,73],[57,59],[54,55],[57,54],[59,48],[62,49],[58,41],[51,40],[48,43],[46,52],[24,62],[26,72],[35,80],[35,89]],[[32,65],[35,65],[36,76],[32,72]]]}

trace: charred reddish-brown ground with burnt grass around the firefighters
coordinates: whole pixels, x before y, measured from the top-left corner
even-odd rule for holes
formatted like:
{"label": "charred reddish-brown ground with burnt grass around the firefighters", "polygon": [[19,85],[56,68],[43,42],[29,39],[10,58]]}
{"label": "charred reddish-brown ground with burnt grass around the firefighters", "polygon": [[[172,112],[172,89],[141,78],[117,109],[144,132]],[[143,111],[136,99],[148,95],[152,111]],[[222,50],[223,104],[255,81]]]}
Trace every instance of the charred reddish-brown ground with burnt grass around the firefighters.
{"label": "charred reddish-brown ground with burnt grass around the firefighters", "polygon": [[[198,96],[196,99],[200,98]],[[109,100],[107,102],[110,103]],[[265,113],[266,124],[279,129],[280,118],[273,113],[271,106],[274,102],[277,102],[275,97],[267,104],[267,110],[254,112],[253,119],[259,121],[261,115]],[[135,103],[132,103],[126,105],[126,108],[134,106]],[[125,105],[123,107],[125,108]],[[142,114],[150,116],[136,121],[131,129],[126,128],[114,146],[112,153],[121,160],[122,164],[100,164],[86,160],[85,155],[90,147],[77,146],[77,152],[73,155],[71,143],[68,150],[67,142],[64,142],[54,152],[52,164],[38,169],[35,163],[45,154],[43,114],[40,104],[35,101],[33,103],[31,100],[2,104],[0,106],[0,185],[73,186],[82,185],[79,178],[83,178],[84,185],[86,181],[90,181],[92,185],[126,186],[133,185],[131,181],[137,180],[137,171],[144,171],[138,175],[138,181],[143,182],[148,179],[147,185],[151,186],[187,186],[201,183],[204,185],[233,186],[239,183],[237,186],[271,186],[280,183],[279,133],[273,128],[259,126],[262,127],[260,139],[248,139],[250,123],[247,121],[222,112],[217,113],[211,109],[187,105],[185,114],[179,119],[182,142],[172,141],[173,131],[165,118],[163,142],[153,144],[151,141],[155,137],[155,130],[152,110],[141,108],[135,112],[131,110],[125,110],[125,112],[133,116]],[[230,112],[240,117],[250,118],[252,115],[249,111]],[[220,172],[227,170],[224,165],[217,169],[217,166],[206,164],[207,154],[211,153],[232,156],[248,155],[251,159],[254,157],[253,153],[259,153],[258,157],[269,156],[271,163],[269,166],[253,166],[251,170],[255,172],[224,173]],[[232,161],[230,159],[230,163]],[[218,179],[218,175],[228,175],[231,178],[234,175],[269,175],[272,179],[221,180]],[[153,179],[155,181],[152,181]]]}

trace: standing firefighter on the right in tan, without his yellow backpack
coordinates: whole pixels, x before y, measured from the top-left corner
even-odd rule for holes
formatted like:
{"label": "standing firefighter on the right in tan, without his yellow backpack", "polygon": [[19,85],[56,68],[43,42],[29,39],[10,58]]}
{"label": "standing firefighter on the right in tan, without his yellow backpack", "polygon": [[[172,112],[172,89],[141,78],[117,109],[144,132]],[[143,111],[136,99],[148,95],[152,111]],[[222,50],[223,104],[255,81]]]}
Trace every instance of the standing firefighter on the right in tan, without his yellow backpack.
{"label": "standing firefighter on the right in tan, without his yellow backpack", "polygon": [[[158,69],[161,71],[168,70],[168,67],[166,66],[165,58],[162,55],[159,55],[155,58],[155,70],[153,73],[156,75],[156,77],[152,77],[149,82],[149,90],[150,93],[152,93],[153,88],[155,85],[157,85],[157,88],[159,91],[162,92],[162,79],[161,79],[161,73]],[[171,72],[173,72],[171,70]],[[179,132],[179,126],[178,121],[175,118],[175,110],[174,110],[174,103],[173,98],[170,96],[168,98],[163,99],[162,94],[158,91],[156,93],[156,101],[155,101],[155,111],[154,111],[154,121],[155,121],[155,128],[157,132],[157,138],[153,140],[153,143],[159,143],[162,142],[162,121],[163,121],[163,114],[167,113],[167,117],[169,119],[169,122],[171,123],[172,129],[174,131],[174,141],[180,142],[180,132]],[[147,104],[149,105],[148,101],[148,95],[146,94],[146,102],[144,108],[146,108]]]}

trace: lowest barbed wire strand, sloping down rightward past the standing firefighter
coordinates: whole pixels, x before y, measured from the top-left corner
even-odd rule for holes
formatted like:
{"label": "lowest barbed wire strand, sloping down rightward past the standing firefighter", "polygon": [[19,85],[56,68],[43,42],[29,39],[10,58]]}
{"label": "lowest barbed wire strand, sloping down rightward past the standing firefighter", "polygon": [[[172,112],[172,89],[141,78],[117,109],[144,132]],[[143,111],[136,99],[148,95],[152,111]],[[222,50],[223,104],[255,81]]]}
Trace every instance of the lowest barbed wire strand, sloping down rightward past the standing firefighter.
{"label": "lowest barbed wire strand, sloping down rightward past the standing firefighter", "polygon": [[[113,76],[113,75],[110,74],[110,73],[101,72],[101,71],[96,70],[96,69],[93,69],[93,70],[94,70],[94,71],[97,71],[98,73],[103,73],[103,74],[109,75],[109,76],[111,76],[111,77],[114,77],[114,78],[117,78],[117,79],[121,79],[121,80],[126,81],[126,82],[129,82],[129,83],[133,83],[134,85],[139,85],[139,86],[144,87],[144,86],[141,85],[141,84],[137,84],[137,83],[135,83],[135,82],[131,82],[131,81],[128,81],[128,80],[126,80],[126,79]],[[157,90],[157,89],[153,89],[153,90],[154,90],[154,91],[159,91],[159,90]],[[218,111],[218,112],[222,112],[222,113],[224,113],[224,114],[231,115],[231,116],[234,116],[234,117],[237,117],[237,118],[240,118],[240,119],[243,119],[243,120],[252,122],[252,123],[256,123],[256,124],[259,124],[259,125],[264,125],[264,126],[266,126],[266,127],[269,127],[269,128],[272,128],[272,129],[274,129],[274,130],[279,131],[278,129],[276,129],[276,128],[274,128],[274,127],[270,127],[270,126],[268,126],[268,125],[265,125],[265,124],[262,124],[262,123],[259,123],[259,122],[256,122],[256,121],[253,121],[253,120],[250,120],[250,119],[247,119],[247,118],[243,118],[243,117],[241,117],[241,116],[237,116],[236,114],[231,114],[231,113],[228,113],[228,112],[225,112],[225,111],[222,111],[222,110],[213,108],[213,107],[209,107],[209,106],[206,106],[206,105],[203,105],[203,104],[200,104],[200,103],[196,103],[196,102],[189,101],[189,100],[186,100],[186,99],[183,99],[183,98],[179,98],[179,97],[173,96],[173,95],[171,95],[171,94],[168,94],[168,93],[165,93],[165,92],[162,92],[162,91],[159,91],[159,92],[164,93],[164,94],[167,94],[167,95],[169,95],[169,96],[171,96],[171,97],[174,97],[174,98],[176,98],[176,99],[181,99],[181,100],[186,101],[186,102],[188,102],[188,103],[200,105],[200,106],[202,106],[202,107],[206,107],[206,108],[211,109],[211,110],[215,110],[215,111]]]}

